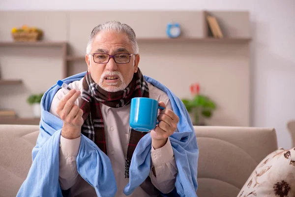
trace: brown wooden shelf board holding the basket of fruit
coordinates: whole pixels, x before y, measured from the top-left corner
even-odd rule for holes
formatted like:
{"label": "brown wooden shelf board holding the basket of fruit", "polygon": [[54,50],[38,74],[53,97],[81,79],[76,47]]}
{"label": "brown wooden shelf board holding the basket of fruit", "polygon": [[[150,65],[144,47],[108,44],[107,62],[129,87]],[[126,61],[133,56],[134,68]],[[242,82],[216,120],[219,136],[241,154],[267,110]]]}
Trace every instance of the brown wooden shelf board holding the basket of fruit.
{"label": "brown wooden shelf board holding the basket of fruit", "polygon": [[50,41],[36,41],[36,42],[0,42],[0,46],[60,46],[63,47],[66,42],[50,42]]}

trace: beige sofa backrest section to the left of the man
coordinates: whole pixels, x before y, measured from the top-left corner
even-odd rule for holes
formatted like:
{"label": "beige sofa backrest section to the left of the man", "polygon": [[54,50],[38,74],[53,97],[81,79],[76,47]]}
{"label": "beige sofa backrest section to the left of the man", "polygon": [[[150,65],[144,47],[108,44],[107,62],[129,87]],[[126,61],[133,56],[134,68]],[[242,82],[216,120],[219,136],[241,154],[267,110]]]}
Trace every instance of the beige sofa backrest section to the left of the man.
{"label": "beige sofa backrest section to the left of the man", "polygon": [[32,163],[39,126],[0,126],[0,197],[15,197]]}

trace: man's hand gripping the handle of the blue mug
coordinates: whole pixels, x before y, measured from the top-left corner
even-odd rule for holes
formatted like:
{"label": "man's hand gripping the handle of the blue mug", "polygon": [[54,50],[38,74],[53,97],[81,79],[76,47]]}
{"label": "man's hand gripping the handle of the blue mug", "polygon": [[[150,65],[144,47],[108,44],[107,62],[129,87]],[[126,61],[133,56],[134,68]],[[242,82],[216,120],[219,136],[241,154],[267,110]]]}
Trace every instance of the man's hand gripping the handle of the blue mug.
{"label": "man's hand gripping the handle of the blue mug", "polygon": [[159,106],[165,109],[158,116],[158,120],[160,121],[158,126],[150,131],[151,145],[154,149],[161,148],[167,143],[168,137],[177,129],[177,123],[179,121],[178,116],[171,109],[166,109],[163,101],[159,102]]}

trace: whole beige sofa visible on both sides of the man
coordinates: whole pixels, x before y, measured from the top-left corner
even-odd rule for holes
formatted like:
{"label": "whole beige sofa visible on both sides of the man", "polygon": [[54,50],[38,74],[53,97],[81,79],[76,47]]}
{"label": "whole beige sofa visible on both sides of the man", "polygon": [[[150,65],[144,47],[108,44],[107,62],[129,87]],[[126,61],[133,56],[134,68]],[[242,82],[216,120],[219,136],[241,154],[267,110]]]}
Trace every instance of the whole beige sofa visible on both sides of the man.
{"label": "whole beige sofa visible on both sides of the man", "polygon": [[[0,197],[15,197],[26,179],[38,130],[0,125]],[[198,197],[236,197],[257,164],[278,148],[272,128],[199,126],[195,131]]]}

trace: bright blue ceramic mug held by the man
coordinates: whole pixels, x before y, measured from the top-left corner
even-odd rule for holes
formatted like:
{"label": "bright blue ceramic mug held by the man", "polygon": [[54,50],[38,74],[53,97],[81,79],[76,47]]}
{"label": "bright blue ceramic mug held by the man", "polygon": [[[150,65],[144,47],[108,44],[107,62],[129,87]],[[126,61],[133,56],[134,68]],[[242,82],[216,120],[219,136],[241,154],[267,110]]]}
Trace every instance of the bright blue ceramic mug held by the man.
{"label": "bright blue ceramic mug held by the man", "polygon": [[159,122],[158,109],[165,109],[160,107],[155,99],[137,97],[131,99],[130,107],[130,127],[136,131],[151,131]]}

